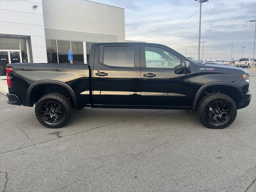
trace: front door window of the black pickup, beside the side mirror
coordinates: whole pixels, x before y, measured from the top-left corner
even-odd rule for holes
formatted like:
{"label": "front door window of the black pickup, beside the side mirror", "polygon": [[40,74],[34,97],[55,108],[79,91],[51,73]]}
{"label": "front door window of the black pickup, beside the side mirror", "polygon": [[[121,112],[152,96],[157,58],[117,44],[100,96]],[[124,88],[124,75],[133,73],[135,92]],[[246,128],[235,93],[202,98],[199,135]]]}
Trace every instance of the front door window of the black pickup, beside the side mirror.
{"label": "front door window of the black pickup, beside the side mirror", "polygon": [[181,60],[174,54],[156,47],[145,47],[146,67],[180,68]]}

